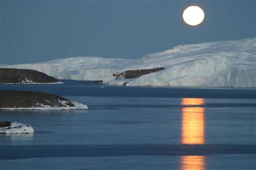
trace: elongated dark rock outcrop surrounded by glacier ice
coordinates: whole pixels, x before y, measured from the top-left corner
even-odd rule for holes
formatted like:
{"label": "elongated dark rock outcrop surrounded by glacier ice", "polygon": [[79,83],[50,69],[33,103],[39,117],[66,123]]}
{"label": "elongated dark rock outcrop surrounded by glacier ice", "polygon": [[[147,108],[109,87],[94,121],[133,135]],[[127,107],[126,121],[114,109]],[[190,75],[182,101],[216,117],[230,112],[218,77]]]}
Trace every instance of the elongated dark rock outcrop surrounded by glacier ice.
{"label": "elongated dark rock outcrop surrounded by glacier ice", "polygon": [[117,77],[118,79],[133,79],[146,74],[158,72],[162,69],[165,69],[165,68],[160,67],[160,68],[152,68],[152,69],[126,70],[125,72],[122,72],[122,73],[113,74],[113,76]]}

